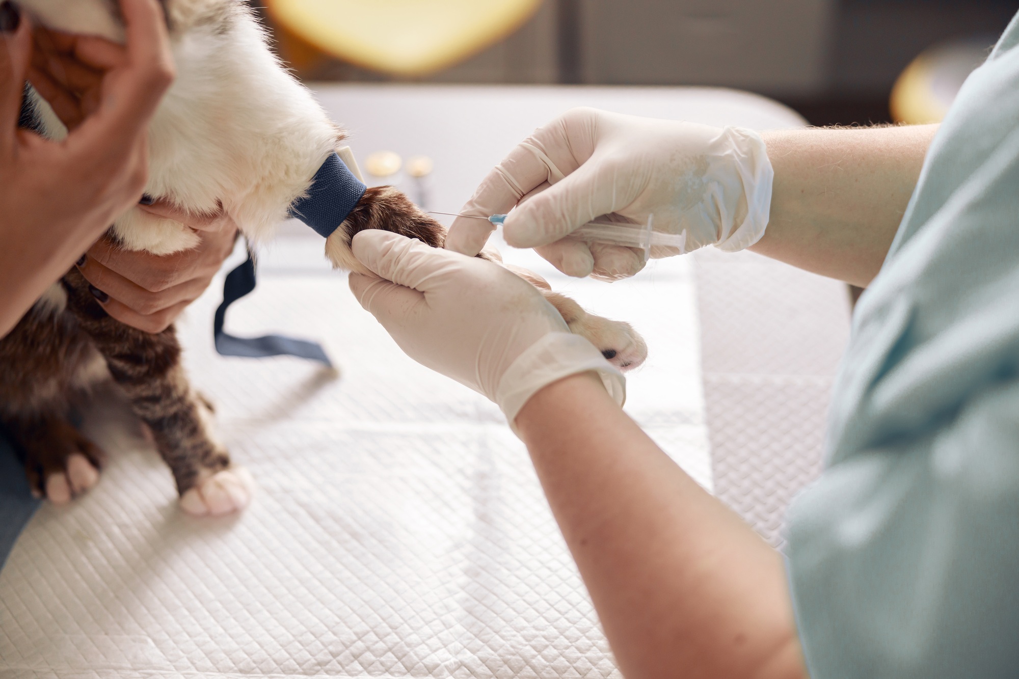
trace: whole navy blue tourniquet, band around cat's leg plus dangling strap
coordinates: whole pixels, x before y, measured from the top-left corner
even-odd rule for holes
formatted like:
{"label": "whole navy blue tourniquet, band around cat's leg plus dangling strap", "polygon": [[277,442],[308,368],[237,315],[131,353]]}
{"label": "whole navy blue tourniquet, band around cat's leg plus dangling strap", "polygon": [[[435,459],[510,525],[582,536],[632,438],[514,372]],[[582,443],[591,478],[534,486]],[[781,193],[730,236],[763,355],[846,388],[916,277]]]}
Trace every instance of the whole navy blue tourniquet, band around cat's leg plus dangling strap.
{"label": "whole navy blue tourniquet, band around cat's leg plus dangling strap", "polygon": [[[312,178],[308,196],[290,206],[290,216],[305,222],[322,238],[329,238],[336,227],[343,223],[361,197],[366,187],[347,169],[335,153],[322,163]],[[230,271],[223,283],[223,303],[216,309],[213,322],[213,338],[216,351],[223,356],[297,356],[311,361],[319,361],[332,366],[322,346],[314,342],[293,340],[278,334],[264,337],[234,337],[223,331],[226,308],[255,290],[255,260],[251,253],[244,264]]]}

